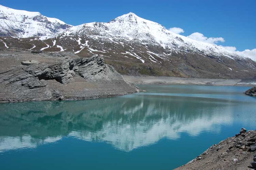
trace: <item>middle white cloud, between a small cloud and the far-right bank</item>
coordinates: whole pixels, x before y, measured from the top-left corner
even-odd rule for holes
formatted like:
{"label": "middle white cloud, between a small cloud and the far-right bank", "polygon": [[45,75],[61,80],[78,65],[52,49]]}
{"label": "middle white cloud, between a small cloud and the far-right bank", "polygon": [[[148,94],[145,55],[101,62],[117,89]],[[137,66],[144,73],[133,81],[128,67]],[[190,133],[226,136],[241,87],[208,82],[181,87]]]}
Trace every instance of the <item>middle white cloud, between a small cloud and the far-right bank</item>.
{"label": "middle white cloud, between a small cloud and the far-right bank", "polygon": [[194,39],[194,40],[197,40],[197,41],[210,43],[210,44],[217,44],[219,41],[220,42],[225,42],[224,38],[222,38],[222,37],[210,37],[210,38],[208,38],[208,37],[204,36],[204,34],[199,33],[199,32],[192,33],[187,37],[189,37],[191,39]]}

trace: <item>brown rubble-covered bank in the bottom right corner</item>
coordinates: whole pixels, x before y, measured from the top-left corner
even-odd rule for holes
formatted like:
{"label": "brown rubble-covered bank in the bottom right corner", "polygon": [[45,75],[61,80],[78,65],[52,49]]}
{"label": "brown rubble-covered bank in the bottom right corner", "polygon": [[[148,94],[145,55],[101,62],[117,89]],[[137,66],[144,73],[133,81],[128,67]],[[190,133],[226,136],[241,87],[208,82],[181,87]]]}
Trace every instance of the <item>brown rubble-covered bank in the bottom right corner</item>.
{"label": "brown rubble-covered bank in the bottom right corner", "polygon": [[242,128],[175,170],[252,170],[256,169],[256,131]]}

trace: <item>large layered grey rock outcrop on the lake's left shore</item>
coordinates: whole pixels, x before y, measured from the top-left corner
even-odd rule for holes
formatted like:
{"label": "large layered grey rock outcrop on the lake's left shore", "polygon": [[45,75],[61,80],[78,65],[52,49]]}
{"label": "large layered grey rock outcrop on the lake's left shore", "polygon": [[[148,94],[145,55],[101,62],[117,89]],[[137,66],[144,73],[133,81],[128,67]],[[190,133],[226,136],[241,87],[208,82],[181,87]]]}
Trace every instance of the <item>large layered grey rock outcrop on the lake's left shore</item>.
{"label": "large layered grey rock outcrop on the lake's left shore", "polygon": [[101,56],[66,52],[0,51],[0,102],[81,100],[126,95],[127,83]]}

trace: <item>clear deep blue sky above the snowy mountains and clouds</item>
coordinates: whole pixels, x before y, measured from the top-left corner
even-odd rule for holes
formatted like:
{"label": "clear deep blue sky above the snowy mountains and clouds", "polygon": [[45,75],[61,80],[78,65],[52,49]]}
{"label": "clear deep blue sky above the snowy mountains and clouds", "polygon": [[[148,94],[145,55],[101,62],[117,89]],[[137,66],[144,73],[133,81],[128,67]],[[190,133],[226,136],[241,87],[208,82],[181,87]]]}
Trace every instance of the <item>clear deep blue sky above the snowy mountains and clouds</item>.
{"label": "clear deep blue sky above the snowy mountains and clouds", "polygon": [[3,6],[41,12],[71,25],[108,22],[133,12],[158,22],[167,29],[182,28],[181,35],[194,32],[206,37],[223,37],[218,45],[234,46],[239,51],[255,49],[255,0],[1,0]]}

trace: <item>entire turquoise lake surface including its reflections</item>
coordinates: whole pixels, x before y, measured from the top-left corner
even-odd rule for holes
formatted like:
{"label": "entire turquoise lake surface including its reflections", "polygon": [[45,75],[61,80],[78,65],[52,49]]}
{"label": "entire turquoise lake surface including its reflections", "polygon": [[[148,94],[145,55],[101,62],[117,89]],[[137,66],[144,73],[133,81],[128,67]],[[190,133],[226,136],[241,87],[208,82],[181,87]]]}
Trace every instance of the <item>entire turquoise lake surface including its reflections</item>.
{"label": "entire turquoise lake surface including its reflections", "polygon": [[256,129],[248,87],[139,87],[147,92],[0,104],[0,169],[171,170]]}

